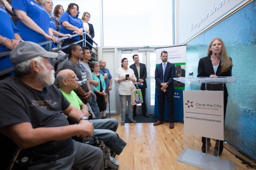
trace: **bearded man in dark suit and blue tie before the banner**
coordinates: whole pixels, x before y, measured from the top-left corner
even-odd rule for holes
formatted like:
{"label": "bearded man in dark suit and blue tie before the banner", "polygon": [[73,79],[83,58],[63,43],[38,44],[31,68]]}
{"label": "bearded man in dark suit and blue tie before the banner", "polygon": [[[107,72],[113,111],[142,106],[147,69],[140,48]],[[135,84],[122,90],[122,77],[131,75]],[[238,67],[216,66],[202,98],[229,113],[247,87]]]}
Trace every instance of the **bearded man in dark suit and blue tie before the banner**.
{"label": "bearded man in dark suit and blue tie before the banner", "polygon": [[169,128],[174,128],[174,88],[173,88],[173,78],[175,78],[175,66],[174,64],[168,62],[168,53],[163,51],[161,53],[162,63],[156,66],[155,79],[156,79],[156,92],[159,107],[159,121],[154,123],[154,126],[163,124],[164,122],[164,103],[165,96],[168,102],[168,116],[170,125]]}

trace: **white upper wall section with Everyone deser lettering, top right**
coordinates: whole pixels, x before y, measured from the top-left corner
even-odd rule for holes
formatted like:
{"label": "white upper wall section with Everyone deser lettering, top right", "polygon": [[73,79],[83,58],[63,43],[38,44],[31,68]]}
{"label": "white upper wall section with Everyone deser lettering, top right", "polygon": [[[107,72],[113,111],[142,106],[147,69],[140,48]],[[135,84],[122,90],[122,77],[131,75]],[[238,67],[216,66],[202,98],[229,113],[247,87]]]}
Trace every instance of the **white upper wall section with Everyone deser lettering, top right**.
{"label": "white upper wall section with Everyone deser lettering, top right", "polygon": [[248,0],[175,0],[175,45],[186,43],[245,2]]}

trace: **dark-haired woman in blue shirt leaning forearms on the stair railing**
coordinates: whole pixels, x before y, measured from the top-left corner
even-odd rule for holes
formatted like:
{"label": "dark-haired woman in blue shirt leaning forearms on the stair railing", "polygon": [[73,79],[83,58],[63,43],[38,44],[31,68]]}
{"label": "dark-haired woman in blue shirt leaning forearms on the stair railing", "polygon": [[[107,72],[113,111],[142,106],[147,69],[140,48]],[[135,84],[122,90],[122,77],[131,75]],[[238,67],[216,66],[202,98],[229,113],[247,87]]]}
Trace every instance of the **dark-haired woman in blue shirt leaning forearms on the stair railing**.
{"label": "dark-haired woman in blue shirt leaning forearms on the stair railing", "polygon": [[[79,16],[79,7],[75,3],[70,3],[68,9],[60,16],[60,32],[63,34],[69,33],[70,35],[77,34],[83,35],[84,25],[83,21],[78,18]],[[80,40],[80,36],[73,37],[71,39],[65,39],[62,46],[75,43]]]}

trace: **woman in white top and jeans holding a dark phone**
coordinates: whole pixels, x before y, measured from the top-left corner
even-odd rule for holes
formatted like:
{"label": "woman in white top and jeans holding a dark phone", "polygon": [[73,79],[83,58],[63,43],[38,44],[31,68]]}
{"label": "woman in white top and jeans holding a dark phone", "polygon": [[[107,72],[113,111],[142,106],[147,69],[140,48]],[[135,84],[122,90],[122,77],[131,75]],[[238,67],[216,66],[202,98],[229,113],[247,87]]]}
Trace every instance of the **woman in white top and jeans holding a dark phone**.
{"label": "woman in white top and jeans holding a dark phone", "polygon": [[123,58],[121,62],[122,67],[117,69],[116,71],[115,82],[119,84],[118,92],[121,103],[121,125],[124,125],[126,108],[128,112],[129,122],[137,123],[135,120],[133,120],[133,106],[131,104],[131,91],[135,89],[133,83],[136,82],[136,77],[134,71],[128,67],[128,59]]}

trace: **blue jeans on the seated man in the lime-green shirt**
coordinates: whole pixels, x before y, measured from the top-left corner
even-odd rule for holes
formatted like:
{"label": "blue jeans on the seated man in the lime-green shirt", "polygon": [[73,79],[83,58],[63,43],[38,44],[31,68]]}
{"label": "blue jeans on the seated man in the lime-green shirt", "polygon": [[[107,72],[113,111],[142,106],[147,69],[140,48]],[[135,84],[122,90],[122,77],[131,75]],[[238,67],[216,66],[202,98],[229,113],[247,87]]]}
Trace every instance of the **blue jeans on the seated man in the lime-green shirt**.
{"label": "blue jeans on the seated man in the lime-green shirt", "polygon": [[116,133],[118,123],[115,118],[90,120],[94,126],[93,136],[101,139],[115,154],[120,155],[126,143]]}

